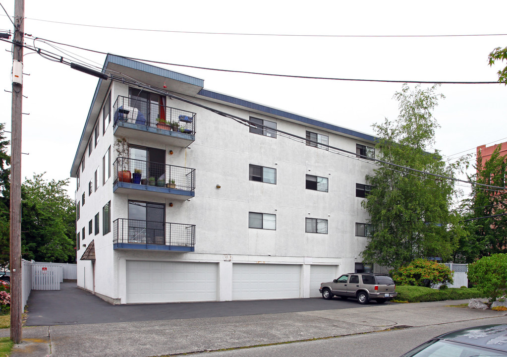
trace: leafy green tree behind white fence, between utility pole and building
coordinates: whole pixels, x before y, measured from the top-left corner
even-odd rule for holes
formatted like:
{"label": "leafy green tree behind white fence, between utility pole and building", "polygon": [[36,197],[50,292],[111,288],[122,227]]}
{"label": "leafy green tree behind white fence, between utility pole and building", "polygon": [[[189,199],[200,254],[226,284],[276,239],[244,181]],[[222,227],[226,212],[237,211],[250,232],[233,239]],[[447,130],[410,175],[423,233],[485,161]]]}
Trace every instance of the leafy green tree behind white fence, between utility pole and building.
{"label": "leafy green tree behind white fence, between utility pole and building", "polygon": [[65,190],[68,179],[48,182],[43,175],[22,185],[23,258],[70,263],[76,255],[76,206]]}

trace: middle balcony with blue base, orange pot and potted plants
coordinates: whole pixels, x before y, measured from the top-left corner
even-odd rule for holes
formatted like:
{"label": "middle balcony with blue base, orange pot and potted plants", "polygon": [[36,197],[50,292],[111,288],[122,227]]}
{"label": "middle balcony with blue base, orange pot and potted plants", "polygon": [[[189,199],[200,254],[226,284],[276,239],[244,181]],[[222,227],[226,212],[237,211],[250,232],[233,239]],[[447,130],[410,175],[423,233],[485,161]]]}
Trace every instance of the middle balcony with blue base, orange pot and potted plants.
{"label": "middle balcony with blue base, orange pot and potted plants", "polygon": [[195,169],[125,157],[113,163],[113,192],[142,191],[147,197],[160,194],[175,200],[195,196]]}

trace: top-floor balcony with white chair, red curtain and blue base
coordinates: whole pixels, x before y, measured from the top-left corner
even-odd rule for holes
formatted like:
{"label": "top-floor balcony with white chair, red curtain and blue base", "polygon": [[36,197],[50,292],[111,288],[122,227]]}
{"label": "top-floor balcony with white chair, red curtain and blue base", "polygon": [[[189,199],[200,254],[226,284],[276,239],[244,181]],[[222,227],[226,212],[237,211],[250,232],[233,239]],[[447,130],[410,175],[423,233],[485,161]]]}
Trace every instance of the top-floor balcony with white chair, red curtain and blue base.
{"label": "top-floor balcony with white chair, red curtain and blue base", "polygon": [[196,114],[141,98],[118,96],[114,133],[186,148],[195,140]]}

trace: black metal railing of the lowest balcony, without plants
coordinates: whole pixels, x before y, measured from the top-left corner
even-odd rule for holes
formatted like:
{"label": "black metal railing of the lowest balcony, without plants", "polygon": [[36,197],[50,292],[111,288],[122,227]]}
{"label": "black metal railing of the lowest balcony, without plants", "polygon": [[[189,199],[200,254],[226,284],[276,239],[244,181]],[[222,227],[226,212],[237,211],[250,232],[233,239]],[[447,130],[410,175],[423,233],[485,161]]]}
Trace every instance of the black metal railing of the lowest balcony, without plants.
{"label": "black metal railing of the lowest balcony, without plants", "polygon": [[119,218],[113,222],[113,243],[194,247],[195,225]]}

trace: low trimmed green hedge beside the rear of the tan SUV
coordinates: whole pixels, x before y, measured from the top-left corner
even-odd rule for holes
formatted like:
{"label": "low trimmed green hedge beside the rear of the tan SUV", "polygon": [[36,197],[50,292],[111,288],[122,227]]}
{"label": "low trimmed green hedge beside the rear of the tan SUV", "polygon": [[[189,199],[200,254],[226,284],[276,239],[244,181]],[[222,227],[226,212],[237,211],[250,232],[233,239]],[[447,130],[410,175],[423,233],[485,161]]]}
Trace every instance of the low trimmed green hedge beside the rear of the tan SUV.
{"label": "low trimmed green hedge beside the rear of the tan SUV", "polygon": [[449,288],[445,290],[397,285],[397,300],[408,302],[463,300],[472,298],[484,298],[475,288]]}

